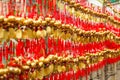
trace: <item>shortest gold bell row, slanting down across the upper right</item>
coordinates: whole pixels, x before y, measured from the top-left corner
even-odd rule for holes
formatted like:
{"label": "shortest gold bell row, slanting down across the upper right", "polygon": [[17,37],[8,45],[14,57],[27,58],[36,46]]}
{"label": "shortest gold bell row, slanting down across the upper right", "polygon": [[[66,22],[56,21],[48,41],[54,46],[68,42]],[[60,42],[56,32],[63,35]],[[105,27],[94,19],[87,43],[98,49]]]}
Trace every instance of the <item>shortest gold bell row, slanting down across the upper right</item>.
{"label": "shortest gold bell row, slanting down across the upper right", "polygon": [[[64,4],[67,3],[66,10],[72,14],[75,15],[76,17],[82,19],[82,20],[87,20],[87,21],[92,21],[92,22],[108,22],[112,25],[115,25],[115,27],[119,27],[120,22],[118,20],[115,20],[113,16],[110,16],[107,13],[100,13],[97,11],[90,10],[88,8],[84,8],[80,5],[80,3],[76,3],[75,1],[72,0],[62,0]],[[63,3],[60,3],[62,6],[64,6]],[[60,8],[61,6],[58,5]]]}

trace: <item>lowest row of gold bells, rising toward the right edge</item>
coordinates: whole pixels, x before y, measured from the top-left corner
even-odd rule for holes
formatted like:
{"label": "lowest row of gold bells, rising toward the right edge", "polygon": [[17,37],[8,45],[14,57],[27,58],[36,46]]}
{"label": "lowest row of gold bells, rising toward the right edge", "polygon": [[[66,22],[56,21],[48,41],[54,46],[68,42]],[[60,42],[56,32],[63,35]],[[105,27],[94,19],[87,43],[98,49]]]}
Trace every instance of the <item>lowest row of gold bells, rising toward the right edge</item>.
{"label": "lowest row of gold bells, rising toward the right edge", "polygon": [[[73,57],[68,55],[57,56],[49,55],[44,58],[27,60],[24,57],[14,57],[8,64],[7,67],[0,69],[0,78],[4,79],[8,75],[19,75],[24,74],[27,71],[29,74],[29,79],[43,79],[43,77],[51,75],[52,73],[67,72],[73,69],[75,72],[77,70],[86,69],[87,67],[97,64],[108,58],[117,58],[120,56],[119,50],[104,50],[96,54],[86,54],[85,56]],[[30,72],[30,70],[34,70]]]}

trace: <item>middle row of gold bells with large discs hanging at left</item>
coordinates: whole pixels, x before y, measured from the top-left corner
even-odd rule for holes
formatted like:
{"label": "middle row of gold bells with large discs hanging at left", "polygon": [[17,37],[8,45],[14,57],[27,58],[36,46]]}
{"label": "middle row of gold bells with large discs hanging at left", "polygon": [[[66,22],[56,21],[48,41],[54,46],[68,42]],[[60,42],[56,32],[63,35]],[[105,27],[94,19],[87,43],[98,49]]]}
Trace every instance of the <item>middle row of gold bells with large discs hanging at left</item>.
{"label": "middle row of gold bells with large discs hanging at left", "polygon": [[49,36],[56,39],[62,38],[64,40],[72,40],[80,43],[100,42],[105,40],[113,40],[117,43],[120,43],[120,38],[110,31],[84,31],[78,29],[72,24],[62,24],[60,21],[49,17],[46,17],[45,19],[40,18],[38,20],[33,20],[30,18],[24,19],[14,16],[4,18],[1,16],[0,22],[1,24],[6,23],[9,25],[2,25],[0,27],[1,41],[9,40],[11,38],[33,39],[40,37],[45,38],[46,36]]}

